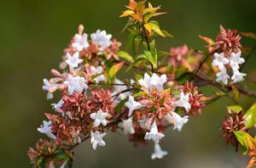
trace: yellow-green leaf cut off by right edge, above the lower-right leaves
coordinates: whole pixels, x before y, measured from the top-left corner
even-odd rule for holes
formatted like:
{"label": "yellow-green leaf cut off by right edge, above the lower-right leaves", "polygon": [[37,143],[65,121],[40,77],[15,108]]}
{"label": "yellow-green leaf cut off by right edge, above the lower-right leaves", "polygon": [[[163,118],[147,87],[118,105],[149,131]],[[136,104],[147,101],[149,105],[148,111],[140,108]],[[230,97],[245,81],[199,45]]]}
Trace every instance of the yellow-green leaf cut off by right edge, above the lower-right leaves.
{"label": "yellow-green leaf cut off by right edge, above the lower-right leaves", "polygon": [[253,104],[253,106],[247,110],[245,113],[245,126],[247,129],[252,128],[256,124],[256,104]]}

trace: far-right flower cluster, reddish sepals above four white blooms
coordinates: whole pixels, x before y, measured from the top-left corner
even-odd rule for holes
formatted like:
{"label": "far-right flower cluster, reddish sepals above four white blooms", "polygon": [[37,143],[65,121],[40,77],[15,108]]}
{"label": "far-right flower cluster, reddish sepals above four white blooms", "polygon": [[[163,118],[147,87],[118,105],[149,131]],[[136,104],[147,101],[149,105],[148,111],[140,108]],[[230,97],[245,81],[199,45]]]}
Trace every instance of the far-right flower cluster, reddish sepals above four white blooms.
{"label": "far-right flower cluster, reddish sepals above four white blooms", "polygon": [[[237,34],[236,30],[225,30],[220,25],[220,33],[217,36],[217,42],[214,42],[212,53],[213,60],[212,66],[217,67],[218,73],[216,74],[216,81],[222,81],[227,85],[231,80],[231,84],[244,80],[245,73],[240,72],[240,64],[245,62],[241,58],[241,36]],[[212,46],[209,46],[212,48]],[[233,75],[229,76],[227,68],[232,70]]]}

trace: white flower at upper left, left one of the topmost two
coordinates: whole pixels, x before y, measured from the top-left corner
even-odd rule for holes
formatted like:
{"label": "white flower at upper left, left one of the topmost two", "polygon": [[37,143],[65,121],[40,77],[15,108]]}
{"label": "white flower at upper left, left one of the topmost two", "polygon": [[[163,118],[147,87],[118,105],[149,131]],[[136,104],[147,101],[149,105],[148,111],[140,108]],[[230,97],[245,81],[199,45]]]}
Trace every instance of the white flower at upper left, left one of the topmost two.
{"label": "white flower at upper left, left one of the topmost two", "polygon": [[73,48],[76,48],[79,52],[83,49],[86,49],[89,47],[89,42],[87,41],[88,35],[86,33],[83,34],[83,36],[76,34],[73,37],[74,42],[72,43]]}

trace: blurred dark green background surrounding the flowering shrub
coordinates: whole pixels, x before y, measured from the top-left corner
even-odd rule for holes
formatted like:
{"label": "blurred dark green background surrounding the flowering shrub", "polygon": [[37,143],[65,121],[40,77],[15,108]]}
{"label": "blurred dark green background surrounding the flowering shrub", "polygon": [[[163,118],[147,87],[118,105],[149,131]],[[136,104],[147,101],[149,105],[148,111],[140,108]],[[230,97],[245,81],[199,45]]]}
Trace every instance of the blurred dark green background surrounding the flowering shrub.
{"label": "blurred dark green background surrounding the flowering shrub", "polygon": [[[36,128],[52,111],[42,91],[43,78],[57,68],[62,49],[67,47],[82,23],[85,31],[105,29],[119,41],[125,19],[119,14],[128,3],[120,0],[20,0],[2,1],[0,5],[0,159],[1,167],[32,167],[26,152],[42,135]],[[158,46],[168,49],[187,43],[205,49],[198,35],[215,37],[218,25],[256,32],[255,0],[151,0],[163,5],[168,14],[159,17],[160,25],[175,36],[159,39]],[[244,41],[243,41],[244,42]],[[247,41],[250,45],[253,42]],[[245,71],[253,70],[256,53]],[[253,66],[254,65],[254,66]],[[212,88],[207,88],[208,95]],[[153,144],[133,148],[121,133],[106,137],[107,147],[93,151],[88,142],[76,151],[75,167],[245,167],[247,158],[225,146],[221,138],[224,106],[232,104],[223,98],[191,118],[183,132],[166,132],[163,148],[169,154],[163,160],[150,160]],[[253,99],[243,98],[247,109]]]}

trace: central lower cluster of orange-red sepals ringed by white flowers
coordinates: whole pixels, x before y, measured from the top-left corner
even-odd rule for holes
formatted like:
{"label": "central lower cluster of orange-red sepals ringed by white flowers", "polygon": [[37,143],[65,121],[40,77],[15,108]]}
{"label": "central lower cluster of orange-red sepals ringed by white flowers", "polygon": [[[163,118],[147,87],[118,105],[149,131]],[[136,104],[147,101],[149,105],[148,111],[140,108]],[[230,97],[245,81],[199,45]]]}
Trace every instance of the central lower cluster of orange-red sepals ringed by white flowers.
{"label": "central lower cluster of orange-red sepals ringed by white flowers", "polygon": [[[128,102],[125,103],[128,118],[123,120],[121,127],[125,134],[137,135],[137,137],[130,135],[130,140],[135,143],[143,141],[142,137],[144,140],[154,142],[155,151],[152,159],[160,159],[167,154],[160,149],[160,141],[165,137],[163,132],[166,124],[172,124],[174,130],[181,132],[184,124],[189,121],[188,115],[180,116],[175,111],[182,108],[185,113],[195,115],[206,100],[203,95],[198,94],[197,88],[192,83],[171,90],[165,89],[167,81],[166,75],[149,76],[145,73],[143,79],[138,81],[143,90],[142,95],[137,96],[137,100],[129,96]],[[174,90],[180,94],[172,94]]]}

